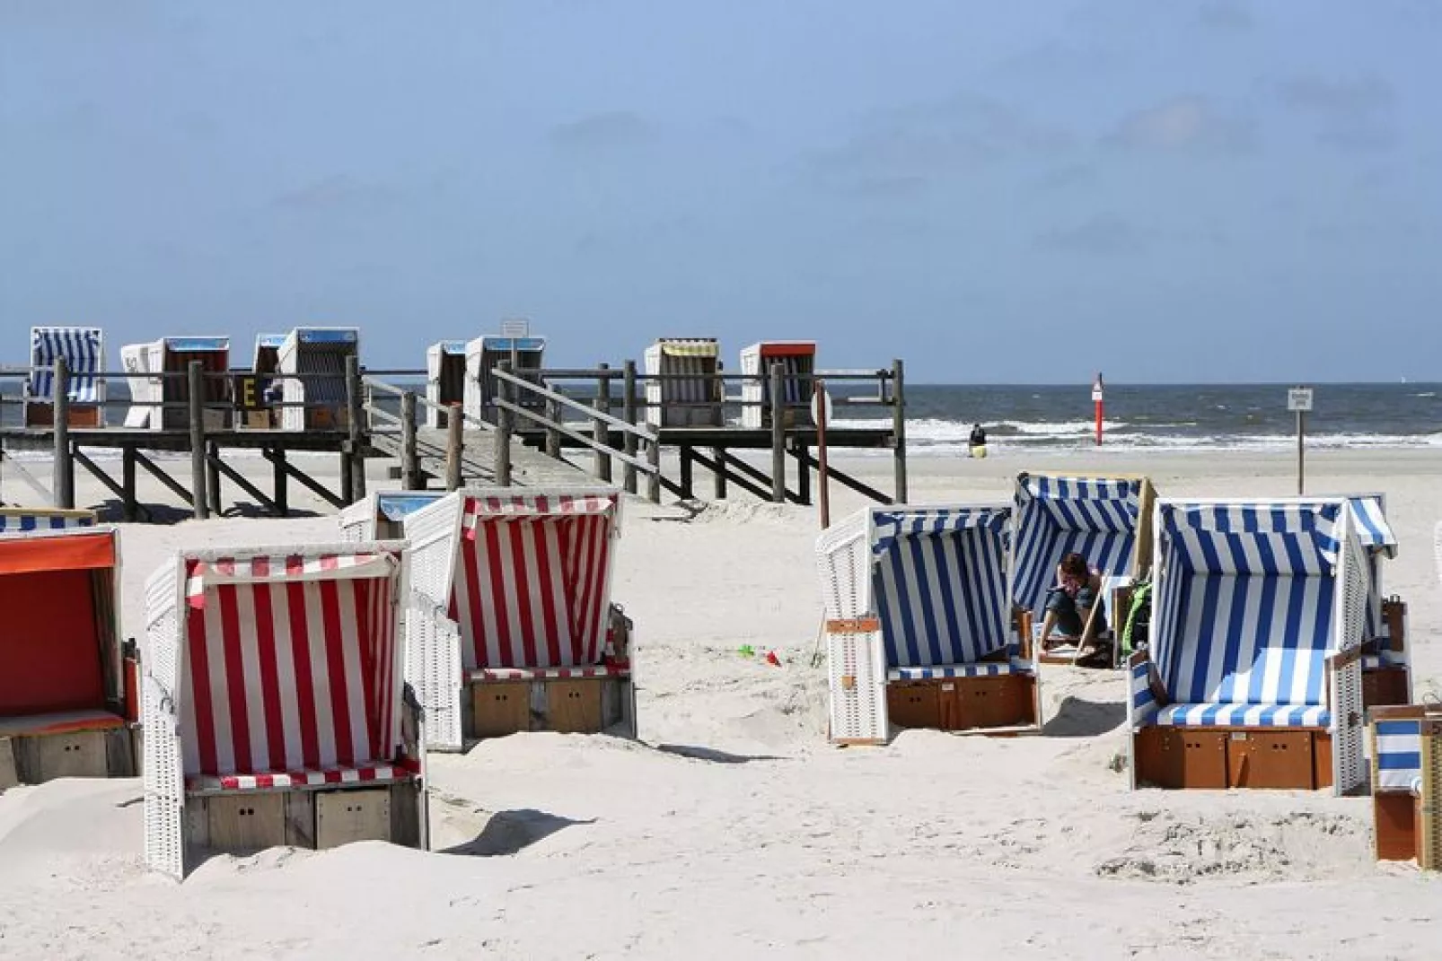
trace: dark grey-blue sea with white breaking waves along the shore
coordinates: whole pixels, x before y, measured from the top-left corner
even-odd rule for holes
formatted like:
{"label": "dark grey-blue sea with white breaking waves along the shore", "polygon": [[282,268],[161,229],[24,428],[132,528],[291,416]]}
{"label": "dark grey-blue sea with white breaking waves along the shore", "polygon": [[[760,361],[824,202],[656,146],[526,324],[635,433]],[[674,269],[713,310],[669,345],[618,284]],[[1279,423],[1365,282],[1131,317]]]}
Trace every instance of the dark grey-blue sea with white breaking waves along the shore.
{"label": "dark grey-blue sea with white breaking waves along the shore", "polygon": [[[1296,415],[1288,385],[1107,385],[1103,450],[1289,450]],[[865,424],[888,411],[839,406],[838,424]],[[955,455],[972,424],[995,451],[1093,448],[1090,385],[907,386],[910,454]],[[1442,385],[1324,383],[1306,415],[1309,448],[1442,447]]]}

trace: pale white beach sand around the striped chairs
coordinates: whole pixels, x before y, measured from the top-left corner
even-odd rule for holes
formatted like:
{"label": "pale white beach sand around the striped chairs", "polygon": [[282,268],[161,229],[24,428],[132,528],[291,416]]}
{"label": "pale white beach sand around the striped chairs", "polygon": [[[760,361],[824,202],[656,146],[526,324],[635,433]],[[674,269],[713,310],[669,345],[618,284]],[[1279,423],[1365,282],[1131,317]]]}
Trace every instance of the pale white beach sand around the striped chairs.
{"label": "pale white beach sand around the striped chairs", "polygon": [[[852,467],[880,480],[885,458]],[[1259,455],[911,462],[913,500],[1007,497],[1021,467],[1149,473],[1162,494],[1286,494]],[[1340,452],[1314,491],[1383,490],[1419,694],[1442,690],[1442,455]],[[709,478],[698,474],[698,483]],[[838,511],[855,506],[838,494]],[[1126,790],[1123,683],[1048,669],[1048,736],[825,745],[810,509],[636,504],[616,598],[639,631],[642,743],[521,735],[433,756],[438,852],[356,844],[141,866],[138,781],[0,795],[0,957],[1442,955],[1442,877],[1377,866],[1370,801]],[[124,530],[125,622],[182,543],[335,522]],[[774,648],[784,667],[737,653]]]}

